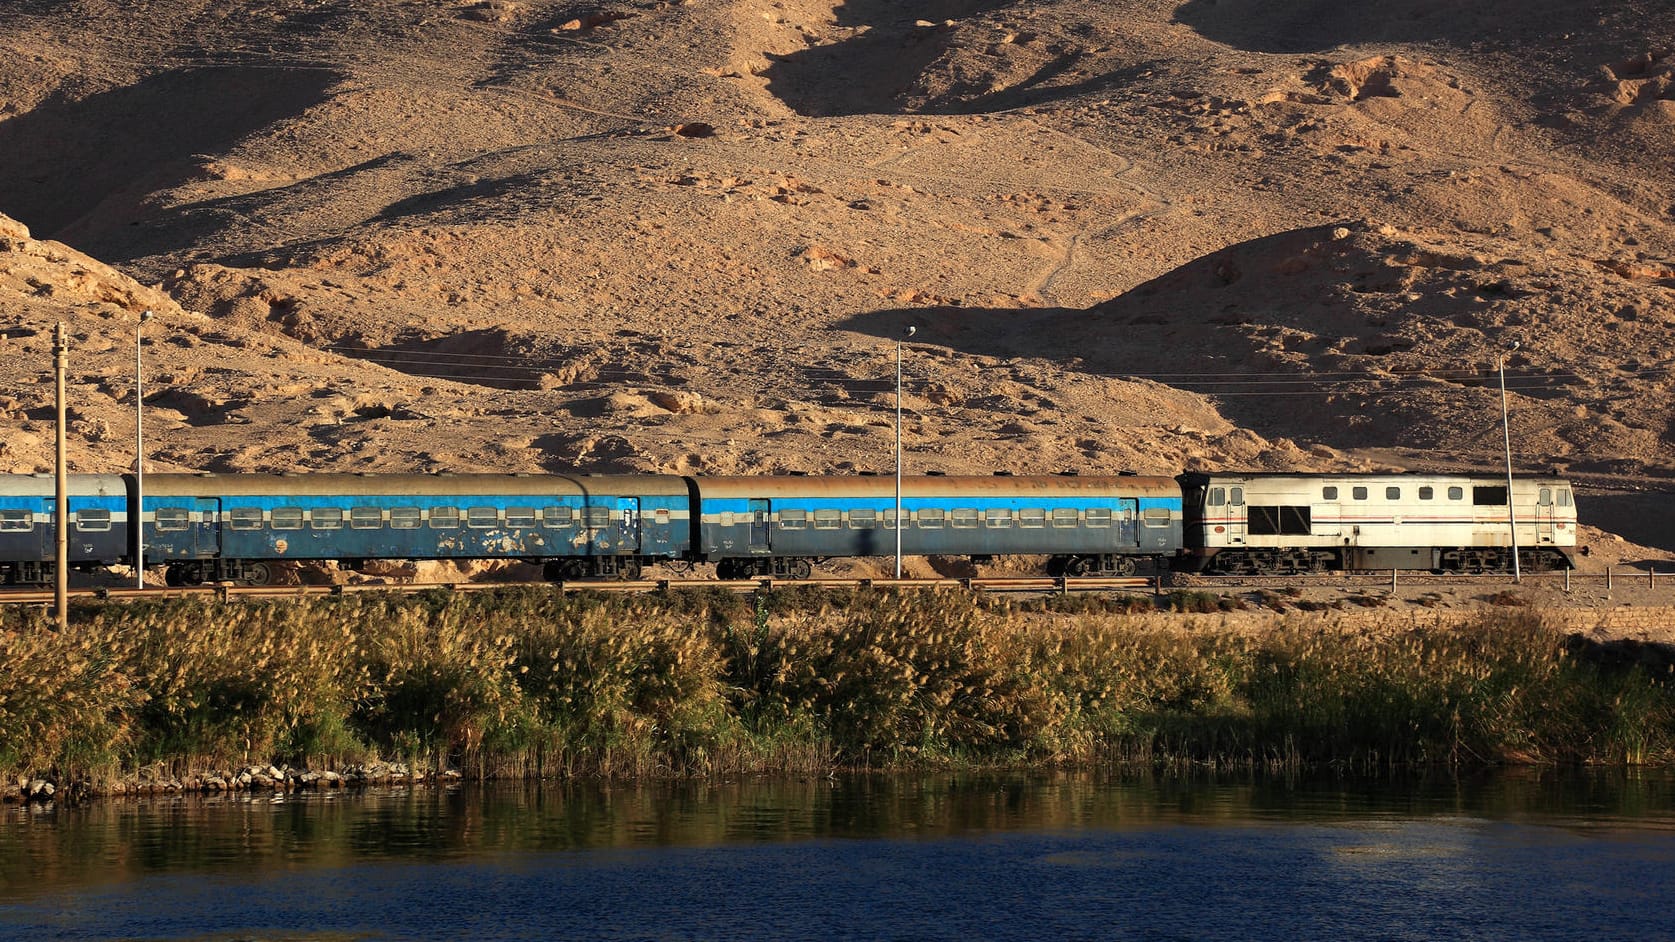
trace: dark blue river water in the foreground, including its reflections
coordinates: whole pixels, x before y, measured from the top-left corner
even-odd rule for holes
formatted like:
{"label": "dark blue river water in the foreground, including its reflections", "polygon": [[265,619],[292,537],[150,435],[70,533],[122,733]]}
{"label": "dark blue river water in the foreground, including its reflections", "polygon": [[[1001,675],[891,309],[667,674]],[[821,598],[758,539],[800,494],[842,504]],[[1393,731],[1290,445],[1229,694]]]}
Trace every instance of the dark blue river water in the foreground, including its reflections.
{"label": "dark blue river water in the foreground, including its reflections", "polygon": [[1675,939],[1675,774],[1094,773],[0,810],[0,939]]}

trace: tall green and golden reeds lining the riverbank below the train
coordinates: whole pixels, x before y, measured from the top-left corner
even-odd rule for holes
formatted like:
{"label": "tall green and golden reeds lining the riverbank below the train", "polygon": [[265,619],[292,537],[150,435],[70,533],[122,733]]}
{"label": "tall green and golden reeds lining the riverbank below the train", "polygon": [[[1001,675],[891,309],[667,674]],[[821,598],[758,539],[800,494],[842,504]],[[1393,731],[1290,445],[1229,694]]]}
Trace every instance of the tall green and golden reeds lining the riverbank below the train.
{"label": "tall green and golden reeds lining the riverbank below the train", "polygon": [[[1668,667],[1491,612],[1261,632],[965,593],[355,595],[0,613],[0,769],[481,776],[1675,759]],[[1189,622],[1199,625],[1199,622]]]}

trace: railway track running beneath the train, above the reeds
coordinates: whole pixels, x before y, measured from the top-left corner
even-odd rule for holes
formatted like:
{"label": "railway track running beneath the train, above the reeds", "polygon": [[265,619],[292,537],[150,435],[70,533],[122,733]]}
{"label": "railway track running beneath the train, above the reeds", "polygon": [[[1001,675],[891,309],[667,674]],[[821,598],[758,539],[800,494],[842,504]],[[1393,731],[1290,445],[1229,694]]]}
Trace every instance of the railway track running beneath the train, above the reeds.
{"label": "railway track running beneath the train, above the reeds", "polygon": [[[362,585],[198,585],[198,587],[156,587],[156,588],[72,588],[70,600],[107,600],[132,602],[137,598],[305,598],[320,595],[352,595],[362,592],[494,592],[518,585],[518,582],[469,582],[469,583],[362,583]],[[1432,573],[1330,573],[1330,575],[1273,575],[1273,577],[1193,577],[1181,573],[1126,577],[1126,578],[1049,578],[1049,577],[997,577],[997,578],[744,578],[744,580],[633,580],[633,582],[553,582],[544,583],[553,592],[605,592],[615,595],[638,595],[652,592],[670,592],[682,588],[719,588],[724,592],[770,592],[776,588],[884,588],[884,590],[921,590],[921,588],[965,588],[983,593],[1084,593],[1084,592],[1151,592],[1162,595],[1176,590],[1285,590],[1285,588],[1394,588],[1394,587],[1447,587],[1447,588],[1494,588],[1516,585],[1511,575],[1432,575]],[[1675,572],[1605,572],[1573,573],[1549,572],[1528,573],[1523,585],[1541,585],[1546,588],[1613,588],[1613,587],[1675,587]],[[0,605],[50,605],[54,593],[50,588],[5,588],[0,590]]]}

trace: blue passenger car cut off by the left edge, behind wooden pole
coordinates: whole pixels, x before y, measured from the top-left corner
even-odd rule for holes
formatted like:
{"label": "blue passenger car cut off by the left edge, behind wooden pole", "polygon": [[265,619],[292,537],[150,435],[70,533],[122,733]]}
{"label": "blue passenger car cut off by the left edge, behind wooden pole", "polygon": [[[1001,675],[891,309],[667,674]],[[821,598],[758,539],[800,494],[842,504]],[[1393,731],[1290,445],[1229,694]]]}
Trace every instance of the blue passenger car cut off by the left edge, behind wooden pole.
{"label": "blue passenger car cut off by the left edge, behind wooden pole", "polygon": [[[92,570],[127,560],[124,479],[117,474],[70,474],[67,484],[70,568]],[[57,503],[57,481],[52,474],[0,476],[0,582],[52,582]]]}

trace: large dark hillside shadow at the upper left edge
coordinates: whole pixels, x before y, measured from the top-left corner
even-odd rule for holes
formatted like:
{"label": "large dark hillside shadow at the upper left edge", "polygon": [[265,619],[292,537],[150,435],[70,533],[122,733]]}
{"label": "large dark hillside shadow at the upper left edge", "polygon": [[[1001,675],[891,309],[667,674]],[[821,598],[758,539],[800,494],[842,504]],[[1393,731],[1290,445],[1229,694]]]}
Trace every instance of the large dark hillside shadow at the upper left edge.
{"label": "large dark hillside shadow at the upper left edge", "polygon": [[0,122],[0,211],[39,238],[124,261],[137,255],[127,230],[154,193],[199,174],[201,156],[325,101],[337,80],[330,70],[214,67],[55,96]]}

